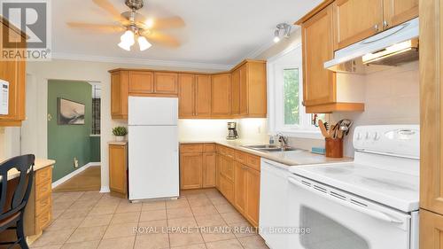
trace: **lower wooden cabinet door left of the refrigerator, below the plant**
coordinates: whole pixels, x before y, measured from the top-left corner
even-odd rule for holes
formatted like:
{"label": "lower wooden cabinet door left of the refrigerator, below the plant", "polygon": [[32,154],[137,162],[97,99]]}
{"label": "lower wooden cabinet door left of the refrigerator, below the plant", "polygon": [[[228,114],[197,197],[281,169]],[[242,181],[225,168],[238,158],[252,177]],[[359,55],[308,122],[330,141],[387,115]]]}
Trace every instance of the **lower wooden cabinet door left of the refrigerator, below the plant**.
{"label": "lower wooden cabinet door left of the refrigerator, below the plant", "polygon": [[127,194],[127,146],[109,145],[109,188],[111,191]]}

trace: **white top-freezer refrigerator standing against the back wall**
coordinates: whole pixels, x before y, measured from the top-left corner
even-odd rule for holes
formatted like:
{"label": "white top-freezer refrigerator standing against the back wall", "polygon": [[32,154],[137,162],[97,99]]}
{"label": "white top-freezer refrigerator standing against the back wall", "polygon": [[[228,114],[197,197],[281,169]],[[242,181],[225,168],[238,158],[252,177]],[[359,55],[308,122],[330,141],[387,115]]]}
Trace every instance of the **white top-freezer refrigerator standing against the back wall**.
{"label": "white top-freezer refrigerator standing against the back wall", "polygon": [[129,199],[179,196],[178,99],[129,97]]}

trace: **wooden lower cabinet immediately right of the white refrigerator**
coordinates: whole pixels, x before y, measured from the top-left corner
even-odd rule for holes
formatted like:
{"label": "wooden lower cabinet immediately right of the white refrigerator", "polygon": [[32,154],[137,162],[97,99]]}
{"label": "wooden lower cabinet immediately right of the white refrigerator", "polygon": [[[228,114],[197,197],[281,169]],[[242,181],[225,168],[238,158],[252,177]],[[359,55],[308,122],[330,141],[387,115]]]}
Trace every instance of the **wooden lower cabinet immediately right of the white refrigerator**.
{"label": "wooden lower cabinet immediately right of the white refrigerator", "polygon": [[214,144],[181,144],[180,189],[214,188],[216,160]]}

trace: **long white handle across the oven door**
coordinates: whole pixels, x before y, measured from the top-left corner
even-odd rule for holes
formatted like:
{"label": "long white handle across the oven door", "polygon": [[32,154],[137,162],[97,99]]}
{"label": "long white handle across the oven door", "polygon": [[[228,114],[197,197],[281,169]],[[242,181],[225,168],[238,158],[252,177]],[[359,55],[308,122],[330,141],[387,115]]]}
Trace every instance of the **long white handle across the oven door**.
{"label": "long white handle across the oven door", "polygon": [[293,179],[292,177],[288,177],[288,181],[296,186],[298,186],[299,188],[302,188],[306,191],[310,191],[312,193],[315,193],[316,195],[321,195],[323,198],[328,198],[329,200],[341,205],[341,206],[347,206],[351,209],[354,209],[355,211],[358,211],[360,213],[363,214],[368,214],[369,216],[376,218],[377,220],[381,220],[384,222],[392,222],[392,223],[397,223],[397,224],[402,224],[403,222],[393,219],[391,216],[389,216],[388,214],[385,214],[383,212],[374,210],[374,209],[370,209],[368,207],[364,207],[364,206],[358,206],[355,204],[350,203],[349,201],[343,200],[341,198],[335,198],[330,196],[330,194],[328,193],[324,193],[321,191],[315,191],[314,188],[311,188],[303,183],[300,183],[299,181]]}

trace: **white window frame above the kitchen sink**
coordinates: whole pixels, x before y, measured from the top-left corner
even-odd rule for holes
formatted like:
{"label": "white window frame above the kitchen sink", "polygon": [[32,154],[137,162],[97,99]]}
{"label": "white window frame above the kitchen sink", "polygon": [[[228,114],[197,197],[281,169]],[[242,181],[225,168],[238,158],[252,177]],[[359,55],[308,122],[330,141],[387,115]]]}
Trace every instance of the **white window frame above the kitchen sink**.
{"label": "white window frame above the kitchen sink", "polygon": [[[284,58],[296,56],[291,62],[283,62]],[[311,114],[306,113],[303,102],[303,64],[301,44],[296,44],[285,51],[268,59],[268,127],[269,135],[281,133],[284,136],[323,139],[320,130],[311,124]],[[284,70],[299,69],[299,124],[284,124]]]}

